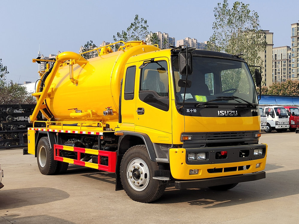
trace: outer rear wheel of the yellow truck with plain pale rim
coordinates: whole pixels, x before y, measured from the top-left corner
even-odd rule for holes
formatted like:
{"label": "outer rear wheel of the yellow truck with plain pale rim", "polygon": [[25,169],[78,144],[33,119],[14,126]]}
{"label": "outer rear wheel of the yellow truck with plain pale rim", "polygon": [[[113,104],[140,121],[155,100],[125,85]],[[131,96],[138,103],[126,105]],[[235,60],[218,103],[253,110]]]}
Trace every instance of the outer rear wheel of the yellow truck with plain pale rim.
{"label": "outer rear wheel of the yellow truck with plain pale rim", "polygon": [[54,160],[54,150],[51,150],[48,137],[39,139],[37,145],[37,165],[44,175],[55,174],[57,161]]}

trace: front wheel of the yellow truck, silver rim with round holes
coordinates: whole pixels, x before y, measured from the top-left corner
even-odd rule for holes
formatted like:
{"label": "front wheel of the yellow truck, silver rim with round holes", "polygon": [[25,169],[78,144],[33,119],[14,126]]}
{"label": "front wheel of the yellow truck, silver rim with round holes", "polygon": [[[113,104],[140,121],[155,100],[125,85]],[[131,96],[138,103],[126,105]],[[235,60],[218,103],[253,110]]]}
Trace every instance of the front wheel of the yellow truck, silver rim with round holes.
{"label": "front wheel of the yellow truck, silver rim with round holes", "polygon": [[120,163],[120,179],[126,194],[134,201],[149,203],[160,198],[166,184],[152,179],[158,163],[149,159],[145,145],[128,149]]}

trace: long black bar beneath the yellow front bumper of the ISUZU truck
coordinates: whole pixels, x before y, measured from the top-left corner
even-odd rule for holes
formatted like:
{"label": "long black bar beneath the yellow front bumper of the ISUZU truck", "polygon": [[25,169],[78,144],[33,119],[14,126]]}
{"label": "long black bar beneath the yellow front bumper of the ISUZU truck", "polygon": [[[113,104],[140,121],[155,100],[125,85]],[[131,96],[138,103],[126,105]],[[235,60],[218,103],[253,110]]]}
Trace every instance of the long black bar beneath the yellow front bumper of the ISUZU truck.
{"label": "long black bar beneath the yellow front bumper of the ISUZU truck", "polygon": [[203,188],[203,187],[212,187],[225,184],[234,184],[240,182],[247,182],[253,180],[259,180],[266,178],[266,172],[261,171],[254,174],[241,174],[229,177],[216,177],[202,180],[184,180],[176,181],[176,189],[188,189],[188,188]]}

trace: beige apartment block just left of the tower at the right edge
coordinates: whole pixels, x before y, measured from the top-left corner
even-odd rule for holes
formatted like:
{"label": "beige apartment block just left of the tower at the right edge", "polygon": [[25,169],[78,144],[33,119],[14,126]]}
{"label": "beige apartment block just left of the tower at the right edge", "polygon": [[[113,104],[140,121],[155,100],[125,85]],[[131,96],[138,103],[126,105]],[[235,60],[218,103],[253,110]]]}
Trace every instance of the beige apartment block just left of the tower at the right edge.
{"label": "beige apartment block just left of the tower at the right edge", "polygon": [[291,79],[291,47],[273,47],[273,82],[285,82]]}

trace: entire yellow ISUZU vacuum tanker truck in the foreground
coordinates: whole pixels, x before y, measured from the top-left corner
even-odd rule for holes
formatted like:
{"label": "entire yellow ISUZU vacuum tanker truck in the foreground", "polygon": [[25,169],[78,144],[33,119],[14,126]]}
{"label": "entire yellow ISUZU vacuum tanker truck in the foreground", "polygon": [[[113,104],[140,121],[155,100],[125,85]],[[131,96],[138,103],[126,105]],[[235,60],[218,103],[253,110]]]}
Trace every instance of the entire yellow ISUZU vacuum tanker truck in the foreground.
{"label": "entire yellow ISUZU vacuum tanker truck in the foreground", "polygon": [[[228,190],[265,178],[258,98],[242,58],[117,44],[88,60],[60,53],[40,72],[24,154],[37,157],[42,174],[69,163],[113,172],[115,189],[138,202],[157,200],[169,183]],[[45,120],[36,120],[39,111]]]}

